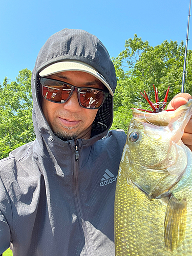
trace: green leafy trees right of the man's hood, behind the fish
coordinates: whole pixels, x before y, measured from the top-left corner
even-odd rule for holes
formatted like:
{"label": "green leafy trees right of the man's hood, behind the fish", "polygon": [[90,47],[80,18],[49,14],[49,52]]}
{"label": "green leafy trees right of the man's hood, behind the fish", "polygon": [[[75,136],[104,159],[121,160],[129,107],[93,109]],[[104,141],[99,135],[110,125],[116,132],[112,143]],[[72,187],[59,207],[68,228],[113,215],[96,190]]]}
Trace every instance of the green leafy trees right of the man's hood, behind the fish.
{"label": "green leafy trees right of the man's hood, behind the fish", "polygon": [[[114,122],[112,129],[127,131],[131,120],[131,108],[148,109],[149,104],[140,94],[146,91],[155,102],[154,88],[158,88],[159,100],[163,101],[170,86],[168,100],[181,91],[185,47],[183,42],[165,40],[152,47],[137,35],[125,41],[125,50],[113,58],[117,74],[117,90],[114,96]],[[185,92],[192,92],[191,62],[188,51]],[[123,120],[122,120],[123,119]]]}

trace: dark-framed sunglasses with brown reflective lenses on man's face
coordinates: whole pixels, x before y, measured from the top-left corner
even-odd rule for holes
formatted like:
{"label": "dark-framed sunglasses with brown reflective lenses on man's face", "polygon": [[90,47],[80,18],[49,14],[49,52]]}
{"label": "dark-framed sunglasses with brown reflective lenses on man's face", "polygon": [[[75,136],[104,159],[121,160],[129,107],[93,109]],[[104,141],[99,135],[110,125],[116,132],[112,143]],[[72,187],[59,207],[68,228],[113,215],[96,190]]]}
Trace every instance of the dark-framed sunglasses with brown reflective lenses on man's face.
{"label": "dark-framed sunglasses with brown reflective lenses on man's face", "polygon": [[65,103],[71,98],[73,92],[77,92],[80,106],[84,109],[99,109],[108,91],[92,87],[76,87],[67,82],[49,78],[40,78],[42,96],[54,103]]}

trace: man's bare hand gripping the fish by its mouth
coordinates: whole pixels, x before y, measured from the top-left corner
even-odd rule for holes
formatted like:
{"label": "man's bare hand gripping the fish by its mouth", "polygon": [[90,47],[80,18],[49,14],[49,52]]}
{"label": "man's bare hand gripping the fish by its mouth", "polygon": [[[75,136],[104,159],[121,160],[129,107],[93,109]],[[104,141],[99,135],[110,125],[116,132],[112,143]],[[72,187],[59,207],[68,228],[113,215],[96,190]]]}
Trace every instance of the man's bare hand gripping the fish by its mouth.
{"label": "man's bare hand gripping the fish by its mouth", "polygon": [[[192,99],[190,94],[179,93],[172,99],[172,101],[170,101],[167,109],[178,109],[179,106],[186,104],[189,99]],[[192,116],[185,127],[184,134],[181,139],[183,143],[192,151]]]}

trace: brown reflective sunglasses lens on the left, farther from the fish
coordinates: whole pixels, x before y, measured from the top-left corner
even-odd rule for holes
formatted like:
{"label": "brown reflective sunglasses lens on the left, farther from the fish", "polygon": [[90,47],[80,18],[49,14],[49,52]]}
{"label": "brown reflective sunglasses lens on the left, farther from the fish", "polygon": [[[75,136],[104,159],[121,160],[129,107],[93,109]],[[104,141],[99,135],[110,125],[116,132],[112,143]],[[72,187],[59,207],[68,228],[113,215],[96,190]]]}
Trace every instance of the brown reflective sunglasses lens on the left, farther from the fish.
{"label": "brown reflective sunglasses lens on the left, farther from the fish", "polygon": [[43,87],[43,96],[52,102],[65,102],[71,93],[68,84],[46,80]]}

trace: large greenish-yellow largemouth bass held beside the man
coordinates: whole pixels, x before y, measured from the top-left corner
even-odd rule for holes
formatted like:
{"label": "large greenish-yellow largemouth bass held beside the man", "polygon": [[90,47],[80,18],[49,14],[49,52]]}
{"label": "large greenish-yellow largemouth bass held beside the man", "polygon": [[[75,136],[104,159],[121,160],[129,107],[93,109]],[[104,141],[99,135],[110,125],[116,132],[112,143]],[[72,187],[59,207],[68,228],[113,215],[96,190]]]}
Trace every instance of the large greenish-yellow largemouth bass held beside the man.
{"label": "large greenish-yellow largemouth bass held beside the man", "polygon": [[181,141],[192,100],[133,110],[115,195],[116,255],[192,255],[192,154]]}

